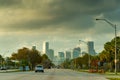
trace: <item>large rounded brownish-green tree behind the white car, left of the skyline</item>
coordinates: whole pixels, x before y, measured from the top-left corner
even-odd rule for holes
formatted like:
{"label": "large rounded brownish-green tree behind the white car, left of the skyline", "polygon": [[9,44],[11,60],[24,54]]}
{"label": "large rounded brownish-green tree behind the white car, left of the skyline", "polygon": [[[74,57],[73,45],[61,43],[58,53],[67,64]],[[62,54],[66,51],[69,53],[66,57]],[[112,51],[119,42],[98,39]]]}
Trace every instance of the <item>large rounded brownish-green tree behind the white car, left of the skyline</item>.
{"label": "large rounded brownish-green tree behind the white car, left of the skyline", "polygon": [[19,60],[21,66],[30,66],[31,69],[35,67],[36,64],[40,64],[42,57],[38,50],[30,50],[26,47],[18,49],[17,53],[13,53],[11,56],[13,60]]}

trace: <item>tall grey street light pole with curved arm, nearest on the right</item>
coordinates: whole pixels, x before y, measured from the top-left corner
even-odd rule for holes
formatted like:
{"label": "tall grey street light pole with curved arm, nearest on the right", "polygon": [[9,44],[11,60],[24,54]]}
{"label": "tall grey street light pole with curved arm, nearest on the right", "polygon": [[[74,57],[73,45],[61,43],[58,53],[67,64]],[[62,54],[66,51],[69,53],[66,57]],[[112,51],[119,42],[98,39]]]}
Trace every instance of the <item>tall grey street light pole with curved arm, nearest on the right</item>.
{"label": "tall grey street light pole with curved arm, nearest on the right", "polygon": [[115,29],[115,74],[117,74],[117,56],[116,56],[116,54],[117,54],[117,50],[116,50],[116,48],[117,48],[117,41],[116,41],[116,37],[117,37],[117,32],[116,32],[116,25],[115,24],[112,24],[111,22],[109,22],[107,19],[96,19],[96,20],[103,20],[103,21],[105,21],[105,22],[107,22],[108,24],[110,24],[114,29]]}

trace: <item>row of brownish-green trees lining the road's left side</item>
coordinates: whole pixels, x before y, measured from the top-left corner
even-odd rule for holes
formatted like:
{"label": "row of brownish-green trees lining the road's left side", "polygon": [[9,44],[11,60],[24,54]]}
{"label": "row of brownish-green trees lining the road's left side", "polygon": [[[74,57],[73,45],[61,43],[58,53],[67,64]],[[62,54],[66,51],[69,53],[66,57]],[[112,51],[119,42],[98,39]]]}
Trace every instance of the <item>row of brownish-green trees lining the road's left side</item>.
{"label": "row of brownish-green trees lining the road's left side", "polygon": [[38,50],[26,47],[18,49],[17,53],[12,53],[12,55],[6,59],[0,56],[0,60],[1,66],[14,66],[16,68],[29,66],[31,70],[33,70],[37,64],[43,65],[44,68],[50,68],[54,65],[46,54],[42,55]]}

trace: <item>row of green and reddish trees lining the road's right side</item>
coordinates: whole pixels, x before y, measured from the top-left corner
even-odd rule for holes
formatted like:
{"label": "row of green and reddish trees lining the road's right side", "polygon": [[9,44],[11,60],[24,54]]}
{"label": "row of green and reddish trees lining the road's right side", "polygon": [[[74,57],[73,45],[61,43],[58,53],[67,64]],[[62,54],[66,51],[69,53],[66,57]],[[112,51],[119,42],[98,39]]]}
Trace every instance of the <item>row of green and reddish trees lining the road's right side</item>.
{"label": "row of green and reddish trees lining the road's right side", "polygon": [[[117,71],[120,71],[120,37],[116,37],[117,43]],[[73,69],[98,69],[106,71],[115,69],[115,38],[104,44],[104,49],[97,55],[92,56],[86,53],[83,57],[72,60],[65,60],[61,65],[63,68]]]}

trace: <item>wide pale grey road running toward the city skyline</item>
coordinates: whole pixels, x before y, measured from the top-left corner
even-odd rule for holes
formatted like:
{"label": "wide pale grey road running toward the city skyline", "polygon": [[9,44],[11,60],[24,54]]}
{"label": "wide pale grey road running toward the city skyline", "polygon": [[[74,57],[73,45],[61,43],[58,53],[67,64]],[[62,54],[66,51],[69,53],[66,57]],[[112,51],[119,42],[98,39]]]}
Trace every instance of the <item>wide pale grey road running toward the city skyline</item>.
{"label": "wide pale grey road running toward the city skyline", "polygon": [[44,73],[0,73],[0,80],[107,80],[103,75],[76,72],[67,69],[48,69]]}

